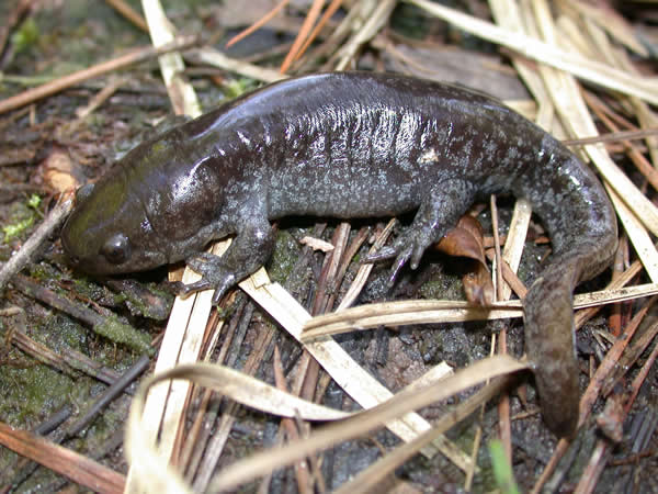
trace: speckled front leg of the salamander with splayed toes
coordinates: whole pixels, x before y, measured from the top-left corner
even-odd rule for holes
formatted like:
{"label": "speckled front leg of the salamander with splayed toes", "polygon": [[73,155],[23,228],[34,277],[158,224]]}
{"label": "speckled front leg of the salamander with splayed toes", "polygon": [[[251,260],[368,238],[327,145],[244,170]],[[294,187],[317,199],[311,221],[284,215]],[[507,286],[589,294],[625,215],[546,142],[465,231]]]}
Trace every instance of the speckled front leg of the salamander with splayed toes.
{"label": "speckled front leg of the salamander with splayed toes", "polygon": [[238,232],[223,256],[200,252],[188,259],[188,266],[200,273],[202,279],[182,285],[181,295],[214,288],[213,304],[217,304],[229,289],[263,266],[274,248],[272,227],[266,218],[257,224],[252,221],[248,223]]}

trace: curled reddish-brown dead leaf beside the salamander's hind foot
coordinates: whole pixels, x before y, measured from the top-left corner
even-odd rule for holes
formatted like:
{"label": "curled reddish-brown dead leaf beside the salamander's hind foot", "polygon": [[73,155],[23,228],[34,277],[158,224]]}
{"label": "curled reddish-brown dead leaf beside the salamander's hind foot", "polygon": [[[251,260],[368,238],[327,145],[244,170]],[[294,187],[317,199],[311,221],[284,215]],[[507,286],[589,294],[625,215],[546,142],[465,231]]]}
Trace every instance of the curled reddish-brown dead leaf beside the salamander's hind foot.
{"label": "curled reddish-brown dead leaf beside the salamander's hind foot", "polygon": [[494,283],[487,268],[483,227],[476,218],[470,215],[462,216],[457,226],[435,248],[449,256],[473,259],[473,269],[462,278],[466,300],[480,306],[494,303]]}

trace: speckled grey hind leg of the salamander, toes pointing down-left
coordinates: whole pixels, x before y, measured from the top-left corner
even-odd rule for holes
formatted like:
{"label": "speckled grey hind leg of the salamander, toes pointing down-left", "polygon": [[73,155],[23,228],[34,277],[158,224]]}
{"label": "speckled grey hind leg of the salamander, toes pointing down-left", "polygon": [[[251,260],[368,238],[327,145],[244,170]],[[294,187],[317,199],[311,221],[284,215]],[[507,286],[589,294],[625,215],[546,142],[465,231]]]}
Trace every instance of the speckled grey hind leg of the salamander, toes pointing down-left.
{"label": "speckled grey hind leg of the salamander, toes pointing down-left", "polygon": [[393,245],[367,256],[365,262],[395,258],[388,279],[393,285],[409,260],[411,269],[418,268],[424,250],[455,226],[474,200],[475,186],[469,181],[451,179],[438,183],[422,200],[411,226]]}

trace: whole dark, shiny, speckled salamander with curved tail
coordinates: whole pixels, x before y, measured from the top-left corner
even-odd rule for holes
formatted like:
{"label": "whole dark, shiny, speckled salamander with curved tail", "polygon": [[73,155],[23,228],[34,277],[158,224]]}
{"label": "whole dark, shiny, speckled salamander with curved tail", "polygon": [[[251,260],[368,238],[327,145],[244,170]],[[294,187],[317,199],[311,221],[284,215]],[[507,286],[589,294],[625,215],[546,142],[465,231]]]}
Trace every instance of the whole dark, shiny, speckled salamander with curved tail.
{"label": "whole dark, shiny, speckled salamander with curved tail", "polygon": [[[288,79],[143,143],[79,192],[61,233],[90,273],[184,260],[184,293],[214,300],[272,252],[271,220],[382,217],[417,210],[405,235],[368,260],[416,268],[478,198],[526,198],[553,256],[523,301],[525,345],[546,424],[571,436],[579,386],[572,291],[603,270],[616,221],[594,175],[549,134],[479,92],[368,72]],[[222,257],[213,239],[235,238]]]}

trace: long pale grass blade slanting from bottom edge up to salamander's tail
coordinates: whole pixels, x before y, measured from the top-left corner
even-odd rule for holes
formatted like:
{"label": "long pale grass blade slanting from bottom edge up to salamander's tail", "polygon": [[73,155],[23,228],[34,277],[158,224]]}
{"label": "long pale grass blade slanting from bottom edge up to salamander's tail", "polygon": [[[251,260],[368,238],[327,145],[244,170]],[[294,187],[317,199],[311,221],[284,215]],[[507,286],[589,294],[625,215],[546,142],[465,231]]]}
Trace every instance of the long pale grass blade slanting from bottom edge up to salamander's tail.
{"label": "long pale grass blade slanting from bottom edge up to salamander's tail", "polygon": [[329,448],[343,440],[361,437],[392,418],[399,417],[412,409],[445,400],[463,390],[480,384],[487,379],[523,369],[527,369],[527,366],[507,356],[480,360],[468,369],[442,379],[441,386],[402,391],[375,408],[318,430],[308,439],[273,448],[241,460],[220,472],[213,481],[211,490],[213,492],[232,490],[243,482],[268,474],[274,469],[291,464],[313,452]]}

